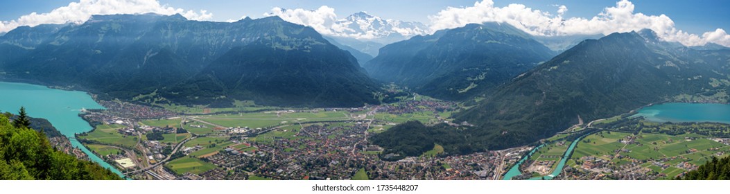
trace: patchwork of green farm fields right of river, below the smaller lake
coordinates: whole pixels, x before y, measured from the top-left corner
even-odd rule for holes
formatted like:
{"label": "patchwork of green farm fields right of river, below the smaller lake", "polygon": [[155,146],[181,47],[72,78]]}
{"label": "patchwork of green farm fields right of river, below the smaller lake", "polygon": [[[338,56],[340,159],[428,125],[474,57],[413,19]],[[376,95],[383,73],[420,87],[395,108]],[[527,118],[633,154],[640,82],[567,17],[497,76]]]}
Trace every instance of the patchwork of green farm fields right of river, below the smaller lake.
{"label": "patchwork of green farm fields right of river, below the smaller lake", "polygon": [[[650,169],[651,173],[674,177],[688,171],[687,167],[682,167],[683,163],[700,166],[713,156],[723,158],[730,155],[729,145],[695,133],[676,136],[637,133],[633,141],[626,142],[632,136],[634,134],[607,131],[587,136],[577,145],[568,165],[581,168],[577,165],[580,158],[593,156],[610,160],[608,165],[614,168],[638,162],[641,167]],[[622,143],[622,140],[625,142]],[[621,152],[617,155],[616,150]]]}

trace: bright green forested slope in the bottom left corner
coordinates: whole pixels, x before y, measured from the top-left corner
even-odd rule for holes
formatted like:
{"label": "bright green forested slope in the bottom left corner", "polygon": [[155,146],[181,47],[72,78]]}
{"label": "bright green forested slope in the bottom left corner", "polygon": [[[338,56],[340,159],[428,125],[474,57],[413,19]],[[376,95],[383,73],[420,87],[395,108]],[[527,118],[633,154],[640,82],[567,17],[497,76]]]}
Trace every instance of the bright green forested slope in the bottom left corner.
{"label": "bright green forested slope in the bottom left corner", "polygon": [[54,150],[30,124],[23,114],[12,123],[0,115],[0,179],[121,179],[96,163]]}

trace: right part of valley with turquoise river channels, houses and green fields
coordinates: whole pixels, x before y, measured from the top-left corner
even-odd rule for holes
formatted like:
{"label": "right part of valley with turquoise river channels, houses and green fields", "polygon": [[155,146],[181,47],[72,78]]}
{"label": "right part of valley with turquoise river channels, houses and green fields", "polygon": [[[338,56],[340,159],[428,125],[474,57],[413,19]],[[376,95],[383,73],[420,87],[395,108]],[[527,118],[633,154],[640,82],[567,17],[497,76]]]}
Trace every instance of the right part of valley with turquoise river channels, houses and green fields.
{"label": "right part of valley with turquoise river channels, houses and green fields", "polygon": [[[675,104],[662,105],[657,107]],[[504,179],[676,179],[712,158],[730,156],[729,123],[657,123],[640,113],[651,108],[593,121],[583,126],[591,132],[578,131],[577,138],[568,130],[543,139]]]}

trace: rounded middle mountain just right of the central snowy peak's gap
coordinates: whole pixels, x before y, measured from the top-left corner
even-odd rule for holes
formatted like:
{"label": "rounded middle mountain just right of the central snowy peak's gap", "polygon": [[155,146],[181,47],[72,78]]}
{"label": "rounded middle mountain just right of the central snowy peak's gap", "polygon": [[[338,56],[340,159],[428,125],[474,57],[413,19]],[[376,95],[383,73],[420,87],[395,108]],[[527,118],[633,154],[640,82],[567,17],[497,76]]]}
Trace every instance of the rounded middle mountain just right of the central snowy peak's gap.
{"label": "rounded middle mountain just right of the central snowy peak's gap", "polygon": [[469,24],[388,44],[364,66],[371,77],[436,98],[464,100],[555,53],[507,23]]}

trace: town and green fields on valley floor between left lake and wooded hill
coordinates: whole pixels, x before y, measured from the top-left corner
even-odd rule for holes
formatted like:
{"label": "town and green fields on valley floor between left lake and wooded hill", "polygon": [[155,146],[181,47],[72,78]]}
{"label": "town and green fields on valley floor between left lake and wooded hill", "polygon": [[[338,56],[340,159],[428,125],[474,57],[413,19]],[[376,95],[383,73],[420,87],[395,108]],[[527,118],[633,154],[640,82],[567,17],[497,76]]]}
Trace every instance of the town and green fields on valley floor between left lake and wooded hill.
{"label": "town and green fields on valley floor between left lake and wooded hill", "polygon": [[77,139],[132,179],[499,179],[526,151],[381,160],[383,149],[369,144],[369,135],[407,120],[449,123],[460,108],[430,98],[203,115],[100,104],[107,109],[82,113],[96,128]]}

